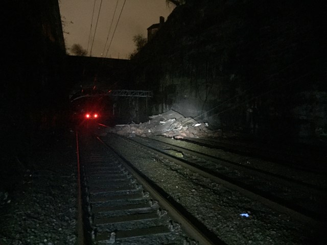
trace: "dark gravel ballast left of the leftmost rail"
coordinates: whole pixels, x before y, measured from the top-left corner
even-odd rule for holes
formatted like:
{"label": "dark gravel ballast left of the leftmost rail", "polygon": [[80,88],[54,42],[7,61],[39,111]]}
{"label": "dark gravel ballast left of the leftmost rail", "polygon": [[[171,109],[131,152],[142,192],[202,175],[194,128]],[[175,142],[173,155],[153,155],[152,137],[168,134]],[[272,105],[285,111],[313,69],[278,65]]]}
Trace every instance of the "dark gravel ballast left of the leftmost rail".
{"label": "dark gravel ballast left of the leftmost rail", "polygon": [[2,190],[1,245],[76,243],[76,148],[72,135],[68,138],[46,139],[22,163],[26,168],[15,188]]}

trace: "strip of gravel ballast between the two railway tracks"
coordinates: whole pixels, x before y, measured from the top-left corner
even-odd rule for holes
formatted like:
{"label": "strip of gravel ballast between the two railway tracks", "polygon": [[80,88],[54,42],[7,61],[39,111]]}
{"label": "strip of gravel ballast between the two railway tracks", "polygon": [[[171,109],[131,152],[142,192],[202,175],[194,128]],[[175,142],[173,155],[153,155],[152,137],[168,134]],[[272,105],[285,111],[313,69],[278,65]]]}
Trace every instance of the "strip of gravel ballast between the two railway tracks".
{"label": "strip of gravel ballast between the two railway tracks", "polygon": [[[112,135],[105,141],[227,244],[324,244],[306,225],[237,191]],[[242,216],[244,213],[249,216]]]}

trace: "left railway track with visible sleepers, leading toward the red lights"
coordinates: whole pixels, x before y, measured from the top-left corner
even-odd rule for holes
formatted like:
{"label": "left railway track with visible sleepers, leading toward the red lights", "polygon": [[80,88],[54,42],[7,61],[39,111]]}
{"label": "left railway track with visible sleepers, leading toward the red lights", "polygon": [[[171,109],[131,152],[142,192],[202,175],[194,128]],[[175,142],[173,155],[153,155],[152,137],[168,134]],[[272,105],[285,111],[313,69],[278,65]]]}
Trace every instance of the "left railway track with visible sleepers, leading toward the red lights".
{"label": "left railway track with visible sleepers, leading toward the red lights", "polygon": [[85,244],[225,244],[99,138],[79,138]]}

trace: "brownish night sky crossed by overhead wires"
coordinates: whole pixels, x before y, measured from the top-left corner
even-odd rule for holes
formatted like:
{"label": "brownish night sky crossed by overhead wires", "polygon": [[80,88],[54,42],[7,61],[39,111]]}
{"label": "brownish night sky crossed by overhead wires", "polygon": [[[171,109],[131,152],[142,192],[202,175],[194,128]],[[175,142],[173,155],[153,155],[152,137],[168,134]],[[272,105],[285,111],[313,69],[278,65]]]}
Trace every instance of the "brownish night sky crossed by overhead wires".
{"label": "brownish night sky crossed by overhead wires", "polygon": [[[126,0],[125,5],[124,1],[59,1],[67,53],[69,53],[69,47],[74,43],[78,43],[88,51],[87,56],[91,53],[93,57],[105,57],[107,54],[107,58],[127,59],[135,48],[133,36],[143,34],[146,37],[147,28],[154,23],[158,23],[159,16],[164,16],[166,20],[173,10],[173,6],[168,7],[165,0]],[[97,24],[100,5],[101,11]],[[115,6],[117,7],[114,14]],[[93,9],[95,10],[93,11]],[[120,13],[121,17],[116,27]],[[92,15],[93,21],[91,22]],[[111,21],[112,19],[113,21]],[[108,35],[110,25],[111,30]],[[95,30],[96,35],[94,38]],[[114,36],[112,38],[113,32]],[[111,39],[112,42],[108,50]],[[103,56],[101,56],[102,53]]]}

